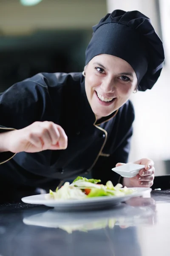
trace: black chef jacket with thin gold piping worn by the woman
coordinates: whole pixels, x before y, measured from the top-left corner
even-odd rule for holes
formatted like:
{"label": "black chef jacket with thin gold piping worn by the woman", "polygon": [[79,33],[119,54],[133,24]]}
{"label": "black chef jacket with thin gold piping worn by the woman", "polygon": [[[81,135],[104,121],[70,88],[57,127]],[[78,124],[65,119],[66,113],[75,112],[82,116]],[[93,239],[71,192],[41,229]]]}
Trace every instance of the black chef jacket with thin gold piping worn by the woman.
{"label": "black chef jacket with thin gold piping worn by the woman", "polygon": [[0,94],[0,132],[52,121],[64,129],[68,147],[1,152],[0,192],[5,189],[6,197],[13,200],[27,192],[34,194],[31,191],[37,187],[54,189],[61,180],[87,172],[102,183],[111,180],[116,185],[119,175],[111,169],[127,162],[133,120],[133,105],[127,101],[96,122],[81,73],[39,73],[14,84]]}

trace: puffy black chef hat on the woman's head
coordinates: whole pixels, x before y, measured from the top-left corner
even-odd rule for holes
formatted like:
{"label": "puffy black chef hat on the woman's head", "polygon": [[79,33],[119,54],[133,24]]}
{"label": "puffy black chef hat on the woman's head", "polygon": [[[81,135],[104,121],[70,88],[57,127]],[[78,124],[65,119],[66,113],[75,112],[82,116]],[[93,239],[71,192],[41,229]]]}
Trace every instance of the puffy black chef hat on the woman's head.
{"label": "puffy black chef hat on the woman's head", "polygon": [[115,10],[93,26],[86,62],[105,53],[127,61],[136,72],[138,89],[151,89],[160,76],[164,48],[150,19],[138,11]]}

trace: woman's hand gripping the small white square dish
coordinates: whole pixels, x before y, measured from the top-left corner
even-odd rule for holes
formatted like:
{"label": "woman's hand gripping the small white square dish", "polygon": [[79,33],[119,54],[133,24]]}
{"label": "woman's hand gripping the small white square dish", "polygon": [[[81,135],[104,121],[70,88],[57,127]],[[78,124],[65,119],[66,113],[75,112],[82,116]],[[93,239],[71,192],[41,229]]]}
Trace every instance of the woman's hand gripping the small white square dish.
{"label": "woman's hand gripping the small white square dish", "polygon": [[[123,186],[127,187],[151,187],[153,185],[155,168],[153,160],[148,158],[142,158],[134,163],[144,165],[144,169],[139,171],[135,177],[123,178]],[[117,166],[121,166],[124,163],[117,163]]]}

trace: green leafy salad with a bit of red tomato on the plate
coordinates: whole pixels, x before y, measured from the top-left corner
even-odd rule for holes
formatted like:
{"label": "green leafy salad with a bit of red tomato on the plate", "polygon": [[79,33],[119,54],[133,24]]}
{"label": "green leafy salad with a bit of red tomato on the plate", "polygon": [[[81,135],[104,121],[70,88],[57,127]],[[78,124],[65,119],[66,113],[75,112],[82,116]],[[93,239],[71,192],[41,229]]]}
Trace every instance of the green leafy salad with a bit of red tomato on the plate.
{"label": "green leafy salad with a bit of red tomato on the plate", "polygon": [[97,184],[99,182],[101,180],[78,176],[73,183],[65,182],[60,189],[57,187],[55,192],[50,189],[47,199],[84,199],[100,196],[124,196],[132,194],[135,191],[135,189],[128,189],[119,183],[113,186],[110,180],[106,185]]}

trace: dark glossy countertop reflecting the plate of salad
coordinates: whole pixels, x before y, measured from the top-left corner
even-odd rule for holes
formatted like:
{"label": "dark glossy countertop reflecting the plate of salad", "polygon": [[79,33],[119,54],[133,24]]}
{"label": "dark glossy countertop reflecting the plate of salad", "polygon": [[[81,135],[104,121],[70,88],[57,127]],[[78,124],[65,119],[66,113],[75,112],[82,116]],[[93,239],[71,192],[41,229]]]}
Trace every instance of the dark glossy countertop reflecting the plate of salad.
{"label": "dark glossy countertop reflecting the plate of salad", "polygon": [[0,256],[170,256],[170,190],[108,210],[0,205]]}

